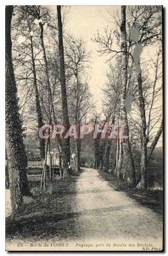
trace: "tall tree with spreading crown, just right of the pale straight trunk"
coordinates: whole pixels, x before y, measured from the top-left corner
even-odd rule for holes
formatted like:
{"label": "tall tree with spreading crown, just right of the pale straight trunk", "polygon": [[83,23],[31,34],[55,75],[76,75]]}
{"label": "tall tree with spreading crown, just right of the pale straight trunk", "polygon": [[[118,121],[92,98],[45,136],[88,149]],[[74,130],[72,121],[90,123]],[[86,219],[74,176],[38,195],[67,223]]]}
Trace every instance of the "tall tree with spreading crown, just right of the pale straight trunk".
{"label": "tall tree with spreading crown, just right of the pale straight trunk", "polygon": [[[161,37],[161,9],[159,6],[153,8],[133,7],[128,11],[128,15],[132,15],[132,27],[130,27],[130,45],[134,46],[132,50],[132,59],[136,67],[137,73],[137,92],[138,92],[138,108],[141,119],[141,179],[138,187],[147,189],[147,166],[148,166],[148,133],[147,133],[147,119],[145,110],[145,98],[143,93],[143,72],[141,67],[140,55],[145,46],[154,44]],[[140,17],[140,18],[139,18]],[[158,67],[160,52],[156,67]],[[156,78],[157,78],[156,69]],[[154,85],[155,89],[155,85]],[[150,113],[150,112],[149,112]],[[150,122],[150,114],[149,114]]]}

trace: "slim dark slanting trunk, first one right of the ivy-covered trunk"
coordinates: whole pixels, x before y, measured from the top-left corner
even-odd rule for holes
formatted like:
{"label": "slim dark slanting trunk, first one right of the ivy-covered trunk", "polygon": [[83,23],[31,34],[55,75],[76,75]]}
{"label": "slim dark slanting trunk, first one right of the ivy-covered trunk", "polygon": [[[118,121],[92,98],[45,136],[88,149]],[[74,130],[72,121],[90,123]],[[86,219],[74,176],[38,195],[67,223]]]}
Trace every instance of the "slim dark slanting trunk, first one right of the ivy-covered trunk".
{"label": "slim dark slanting trunk, first one right of the ivy-covered trunk", "polygon": [[[36,65],[35,65],[32,37],[31,37],[31,61],[32,61],[32,68],[33,68],[33,83],[34,83],[35,96],[36,96],[37,124],[38,124],[38,129],[40,129],[42,127],[42,125],[43,125],[43,121],[42,121],[42,108],[40,106],[38,87],[37,87],[37,83],[36,83]],[[44,158],[45,158],[45,141],[42,138],[40,138],[40,137],[39,137],[39,141],[40,141],[41,159],[44,160]]]}

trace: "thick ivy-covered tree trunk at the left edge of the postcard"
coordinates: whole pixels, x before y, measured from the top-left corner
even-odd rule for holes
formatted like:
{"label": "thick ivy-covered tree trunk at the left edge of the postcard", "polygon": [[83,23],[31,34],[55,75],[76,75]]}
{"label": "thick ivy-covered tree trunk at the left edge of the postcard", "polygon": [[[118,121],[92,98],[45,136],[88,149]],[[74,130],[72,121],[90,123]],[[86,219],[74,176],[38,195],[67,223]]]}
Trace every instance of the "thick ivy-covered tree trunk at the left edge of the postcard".
{"label": "thick ivy-covered tree trunk at the left edge of the postcard", "polygon": [[27,159],[23,143],[22,126],[19,113],[17,87],[12,62],[11,20],[13,6],[6,7],[5,66],[6,66],[6,141],[8,154],[9,187],[13,214],[20,207],[22,195],[30,195],[25,168]]}

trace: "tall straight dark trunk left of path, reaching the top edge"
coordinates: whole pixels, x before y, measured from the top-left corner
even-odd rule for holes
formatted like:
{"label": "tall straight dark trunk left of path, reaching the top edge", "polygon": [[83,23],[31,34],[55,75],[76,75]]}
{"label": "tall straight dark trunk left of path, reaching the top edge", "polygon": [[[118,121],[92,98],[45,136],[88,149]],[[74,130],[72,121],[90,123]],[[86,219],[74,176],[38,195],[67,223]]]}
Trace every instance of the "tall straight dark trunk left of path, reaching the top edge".
{"label": "tall straight dark trunk left of path, reaching the top edge", "polygon": [[[62,20],[61,20],[61,6],[57,6],[57,18],[59,28],[59,67],[60,67],[60,84],[61,84],[61,96],[62,96],[62,111],[63,111],[63,122],[66,130],[70,128],[69,115],[68,115],[68,104],[65,84],[65,72],[64,72],[64,44],[63,44],[63,32],[62,32]],[[68,170],[70,163],[70,137],[64,139],[64,161],[63,167],[64,172]]]}

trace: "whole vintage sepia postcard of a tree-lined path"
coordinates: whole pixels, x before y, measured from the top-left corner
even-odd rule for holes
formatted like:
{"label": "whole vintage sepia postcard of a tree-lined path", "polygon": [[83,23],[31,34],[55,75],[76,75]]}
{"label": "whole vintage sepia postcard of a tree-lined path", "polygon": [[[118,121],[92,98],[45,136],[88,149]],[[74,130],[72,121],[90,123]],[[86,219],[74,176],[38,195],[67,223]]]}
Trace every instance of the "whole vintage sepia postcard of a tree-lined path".
{"label": "whole vintage sepia postcard of a tree-lined path", "polygon": [[162,6],[5,18],[6,250],[163,251]]}

